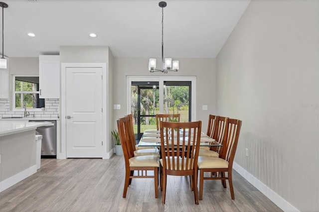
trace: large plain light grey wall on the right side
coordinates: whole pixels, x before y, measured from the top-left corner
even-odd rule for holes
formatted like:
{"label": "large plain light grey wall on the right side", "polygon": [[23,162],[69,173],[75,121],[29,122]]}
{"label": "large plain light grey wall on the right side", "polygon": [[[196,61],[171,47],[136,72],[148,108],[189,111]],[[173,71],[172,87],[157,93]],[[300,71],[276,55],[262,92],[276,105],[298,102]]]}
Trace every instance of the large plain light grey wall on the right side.
{"label": "large plain light grey wall on the right side", "polygon": [[319,211],[319,1],[252,0],[216,64],[217,113],[243,120],[235,162]]}

